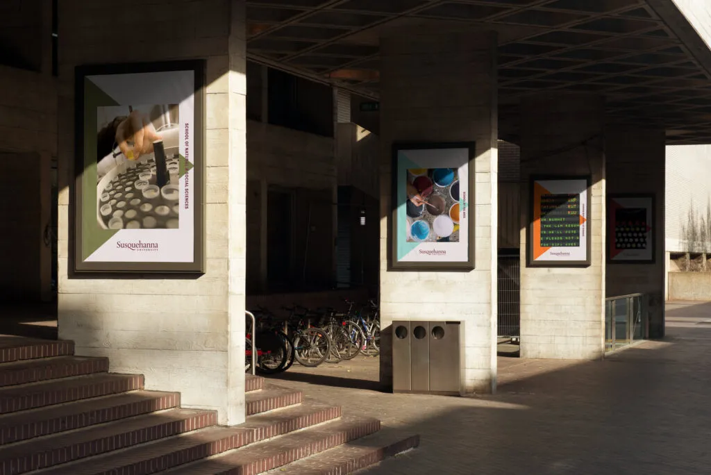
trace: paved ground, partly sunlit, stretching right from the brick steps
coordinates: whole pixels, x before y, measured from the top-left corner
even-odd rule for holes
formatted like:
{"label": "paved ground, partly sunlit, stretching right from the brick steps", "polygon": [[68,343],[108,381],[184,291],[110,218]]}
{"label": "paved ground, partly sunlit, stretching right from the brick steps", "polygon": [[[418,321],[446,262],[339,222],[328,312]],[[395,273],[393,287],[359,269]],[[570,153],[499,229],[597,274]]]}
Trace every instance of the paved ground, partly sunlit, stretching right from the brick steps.
{"label": "paved ground, partly sunlit, stretching right from the brick steps", "polygon": [[605,361],[499,358],[494,396],[380,393],[377,368],[295,365],[278,383],[421,435],[363,474],[711,474],[711,304],[669,304],[664,341]]}

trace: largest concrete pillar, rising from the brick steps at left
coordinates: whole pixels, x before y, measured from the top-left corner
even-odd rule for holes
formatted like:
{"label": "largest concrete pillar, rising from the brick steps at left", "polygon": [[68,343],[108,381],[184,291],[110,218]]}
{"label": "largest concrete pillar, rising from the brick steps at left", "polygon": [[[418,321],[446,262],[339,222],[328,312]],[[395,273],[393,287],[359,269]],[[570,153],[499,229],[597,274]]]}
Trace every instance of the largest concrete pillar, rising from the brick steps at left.
{"label": "largest concrete pillar, rising from the brick steps at left", "polygon": [[[74,340],[79,355],[109,357],[114,372],[143,373],[148,389],[181,392],[185,407],[217,410],[225,425],[245,418],[244,4],[170,0],[155,15],[122,16],[131,18],[125,23],[118,0],[59,2],[59,336]],[[130,33],[137,30],[161,33],[146,43]],[[75,275],[75,66],[196,58],[207,60],[205,274]]]}

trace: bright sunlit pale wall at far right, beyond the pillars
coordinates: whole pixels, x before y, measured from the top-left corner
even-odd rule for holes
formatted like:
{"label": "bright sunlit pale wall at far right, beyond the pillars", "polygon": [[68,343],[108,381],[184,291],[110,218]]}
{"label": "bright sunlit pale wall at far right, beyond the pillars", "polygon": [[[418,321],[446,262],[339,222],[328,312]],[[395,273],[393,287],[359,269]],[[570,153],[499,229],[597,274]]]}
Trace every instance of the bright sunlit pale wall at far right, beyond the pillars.
{"label": "bright sunlit pale wall at far right, beyond the pillars", "polygon": [[711,145],[666,147],[666,250],[711,252]]}

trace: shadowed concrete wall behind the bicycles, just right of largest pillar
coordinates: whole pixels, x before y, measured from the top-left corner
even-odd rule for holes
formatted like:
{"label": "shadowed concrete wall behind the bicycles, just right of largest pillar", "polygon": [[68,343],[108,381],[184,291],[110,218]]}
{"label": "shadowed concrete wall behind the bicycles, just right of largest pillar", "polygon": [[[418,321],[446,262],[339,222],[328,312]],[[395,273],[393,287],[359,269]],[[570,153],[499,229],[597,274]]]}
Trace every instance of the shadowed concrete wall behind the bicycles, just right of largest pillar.
{"label": "shadowed concrete wall behind the bicycles, just right of largest pillar", "polygon": [[[292,262],[294,284],[328,282],[335,270],[337,166],[332,138],[247,121],[247,285],[263,292],[267,284],[267,196],[269,186],[294,192]],[[311,217],[309,218],[309,207]],[[306,242],[307,228],[309,240]],[[330,250],[330,252],[327,252]]]}

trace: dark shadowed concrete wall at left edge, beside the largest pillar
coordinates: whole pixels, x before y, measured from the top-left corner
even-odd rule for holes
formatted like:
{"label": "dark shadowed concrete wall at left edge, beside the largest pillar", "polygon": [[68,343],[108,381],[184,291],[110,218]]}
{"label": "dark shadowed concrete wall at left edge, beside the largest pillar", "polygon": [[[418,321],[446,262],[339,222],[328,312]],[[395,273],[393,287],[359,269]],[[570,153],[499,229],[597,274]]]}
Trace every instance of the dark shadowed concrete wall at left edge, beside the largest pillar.
{"label": "dark shadowed concrete wall at left edge, beside the largest pillar", "polygon": [[[42,66],[31,72],[0,65],[0,199],[6,218],[0,262],[16,269],[0,278],[5,301],[52,299],[51,243],[45,230],[50,226],[51,160],[57,154],[57,87],[50,65]],[[21,208],[15,208],[19,203]]]}

